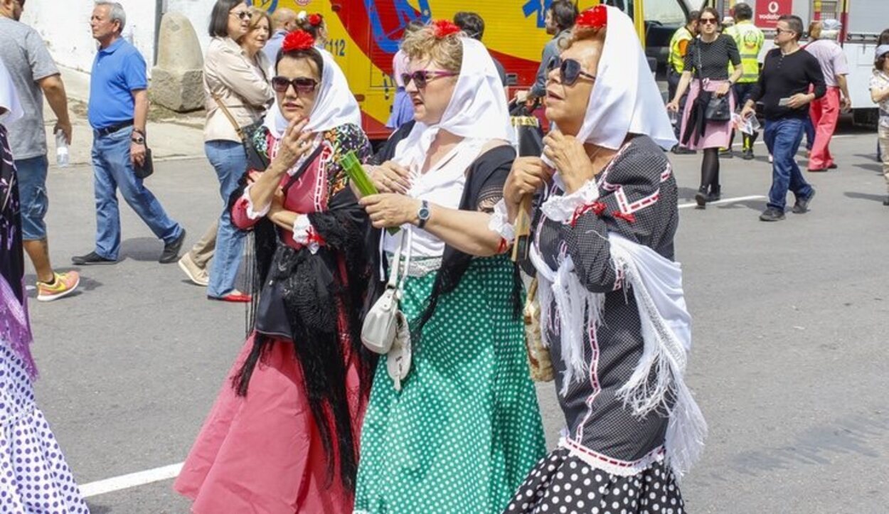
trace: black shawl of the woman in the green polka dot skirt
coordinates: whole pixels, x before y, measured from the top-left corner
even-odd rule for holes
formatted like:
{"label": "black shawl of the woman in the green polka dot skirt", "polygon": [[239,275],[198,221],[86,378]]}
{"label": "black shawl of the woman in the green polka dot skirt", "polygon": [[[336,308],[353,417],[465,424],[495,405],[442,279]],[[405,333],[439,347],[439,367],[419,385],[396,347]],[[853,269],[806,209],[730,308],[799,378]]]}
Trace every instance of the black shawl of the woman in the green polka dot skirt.
{"label": "black shawl of the woman in the green polka dot skirt", "polygon": [[[393,133],[388,141],[380,148],[380,151],[373,157],[373,161],[377,164],[391,160],[395,156],[395,149],[398,141],[401,141],[407,134],[411,133],[413,122],[402,125],[396,133]],[[467,171],[466,185],[463,188],[463,196],[460,200],[460,209],[464,211],[484,211],[492,212],[493,206],[503,197],[503,184],[509,176],[509,170],[512,162],[516,159],[516,150],[508,145],[495,147],[485,151],[480,155],[472,165],[469,165]],[[386,269],[386,262],[380,263],[380,252],[376,251],[380,247],[380,237],[382,230],[372,229],[370,240],[367,243],[371,256],[371,268],[374,275],[372,284],[368,289],[367,301],[364,303],[364,310],[370,309],[373,302],[380,297],[385,291],[385,277],[380,277],[380,265]],[[412,327],[412,332],[419,336],[423,325],[432,317],[435,312],[438,298],[442,294],[451,293],[460,284],[460,280],[469,264],[475,259],[469,253],[463,253],[451,245],[445,245],[445,253],[442,255],[442,266],[438,270],[435,283],[432,285],[432,293],[429,296],[420,322]],[[504,301],[508,299],[504,298]],[[514,314],[519,316],[522,310],[522,280],[519,276],[518,267],[514,268],[513,279],[513,302]]]}

